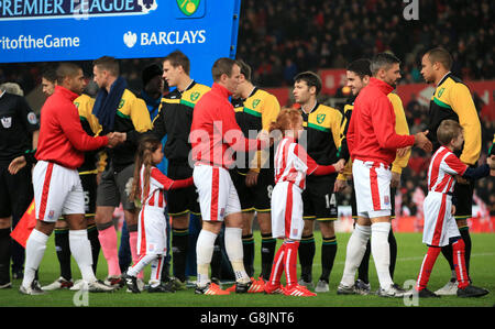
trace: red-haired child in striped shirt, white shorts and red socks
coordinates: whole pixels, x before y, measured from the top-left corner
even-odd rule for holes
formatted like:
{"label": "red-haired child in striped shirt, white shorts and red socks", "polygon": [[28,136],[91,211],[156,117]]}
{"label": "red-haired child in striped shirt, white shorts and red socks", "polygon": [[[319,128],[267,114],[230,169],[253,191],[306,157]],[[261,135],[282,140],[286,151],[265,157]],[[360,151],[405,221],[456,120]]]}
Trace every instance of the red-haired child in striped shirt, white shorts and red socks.
{"label": "red-haired child in striped shirt, white shorts and red socks", "polygon": [[[272,131],[282,131],[283,140],[275,153],[275,187],[272,193],[272,234],[284,239],[278,249],[265,293],[287,296],[316,296],[305,286],[297,284],[297,250],[305,227],[302,220],[302,190],[306,175],[328,175],[343,169],[341,163],[320,166],[306,150],[297,143],[304,132],[299,110],[284,108]],[[282,288],[280,277],[285,270],[286,287]]]}

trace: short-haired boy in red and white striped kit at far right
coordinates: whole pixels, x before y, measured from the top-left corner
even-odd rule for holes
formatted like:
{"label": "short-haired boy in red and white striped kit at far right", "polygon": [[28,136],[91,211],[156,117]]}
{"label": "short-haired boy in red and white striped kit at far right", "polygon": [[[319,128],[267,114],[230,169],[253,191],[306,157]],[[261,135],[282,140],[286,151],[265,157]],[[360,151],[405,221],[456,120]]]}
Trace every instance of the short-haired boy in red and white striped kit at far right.
{"label": "short-haired boy in red and white striped kit at far right", "polygon": [[[488,290],[471,285],[465,266],[465,248],[458,226],[453,218],[455,212],[452,193],[455,176],[477,179],[490,175],[490,168],[495,168],[495,160],[475,169],[462,163],[453,153],[461,150],[464,142],[461,125],[453,120],[444,120],[437,131],[442,144],[431,157],[428,169],[428,196],[425,199],[425,228],[422,242],[428,245],[428,252],[421,264],[416,290],[419,297],[439,297],[428,290],[427,284],[441,246],[452,242],[453,262],[458,278],[458,296],[479,297]],[[490,166],[488,166],[490,165]]]}

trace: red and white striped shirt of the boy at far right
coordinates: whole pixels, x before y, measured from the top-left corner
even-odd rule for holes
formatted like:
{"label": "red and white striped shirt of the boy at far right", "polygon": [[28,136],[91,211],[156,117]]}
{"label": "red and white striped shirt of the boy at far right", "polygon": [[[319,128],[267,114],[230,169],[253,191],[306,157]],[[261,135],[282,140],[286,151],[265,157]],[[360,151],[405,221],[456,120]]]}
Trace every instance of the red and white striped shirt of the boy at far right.
{"label": "red and white striped shirt of the boy at far right", "polygon": [[428,168],[428,190],[452,193],[455,175],[463,175],[468,166],[463,164],[448,147],[440,146],[431,157]]}

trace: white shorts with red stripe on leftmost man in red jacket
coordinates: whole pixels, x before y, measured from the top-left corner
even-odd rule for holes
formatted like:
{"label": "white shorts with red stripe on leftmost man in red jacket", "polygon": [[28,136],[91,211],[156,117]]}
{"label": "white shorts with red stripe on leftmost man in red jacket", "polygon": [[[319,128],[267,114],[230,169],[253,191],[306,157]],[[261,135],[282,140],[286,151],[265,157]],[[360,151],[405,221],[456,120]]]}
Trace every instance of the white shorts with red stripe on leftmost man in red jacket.
{"label": "white shorts with red stripe on leftmost man in red jacket", "polygon": [[77,169],[38,161],[33,169],[36,219],[55,222],[61,215],[85,213],[85,194]]}

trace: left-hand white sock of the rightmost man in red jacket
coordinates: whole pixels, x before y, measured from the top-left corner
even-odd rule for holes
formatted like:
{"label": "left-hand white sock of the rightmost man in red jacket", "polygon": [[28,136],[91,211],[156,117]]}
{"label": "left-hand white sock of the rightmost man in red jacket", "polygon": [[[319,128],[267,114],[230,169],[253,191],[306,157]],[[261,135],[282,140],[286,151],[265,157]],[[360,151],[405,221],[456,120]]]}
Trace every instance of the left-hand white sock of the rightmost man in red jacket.
{"label": "left-hand white sock of the rightmost man in red jacket", "polygon": [[366,243],[370,239],[371,228],[369,226],[355,224],[354,231],[348,242],[345,266],[341,283],[346,286],[354,284],[355,271],[366,252]]}

